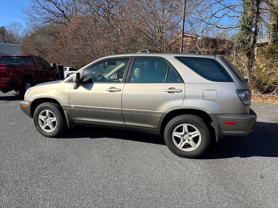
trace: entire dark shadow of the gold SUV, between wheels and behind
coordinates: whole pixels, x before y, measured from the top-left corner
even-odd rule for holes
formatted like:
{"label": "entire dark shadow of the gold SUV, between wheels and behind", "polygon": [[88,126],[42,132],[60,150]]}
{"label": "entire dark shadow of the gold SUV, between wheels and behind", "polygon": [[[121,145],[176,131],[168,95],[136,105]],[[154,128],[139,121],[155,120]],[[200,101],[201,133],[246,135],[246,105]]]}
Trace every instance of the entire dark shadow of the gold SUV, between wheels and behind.
{"label": "entire dark shadow of the gold SUV, between wheels and behind", "polygon": [[[232,157],[278,157],[278,123],[257,122],[253,132],[246,136],[226,137],[213,144],[199,159]],[[77,127],[63,138],[117,138],[165,145],[160,136],[120,129]]]}

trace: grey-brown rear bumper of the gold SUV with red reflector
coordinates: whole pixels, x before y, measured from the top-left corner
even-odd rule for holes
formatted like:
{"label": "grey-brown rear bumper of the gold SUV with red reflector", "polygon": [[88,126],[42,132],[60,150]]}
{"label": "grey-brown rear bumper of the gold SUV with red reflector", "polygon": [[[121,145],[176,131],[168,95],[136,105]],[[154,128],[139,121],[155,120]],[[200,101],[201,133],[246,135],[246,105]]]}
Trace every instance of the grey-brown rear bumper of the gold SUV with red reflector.
{"label": "grey-brown rear bumper of the gold SUV with red reflector", "polygon": [[[223,136],[243,136],[252,132],[257,120],[256,113],[250,109],[246,114],[210,114],[215,128],[216,141]],[[225,124],[234,121],[235,124]]]}

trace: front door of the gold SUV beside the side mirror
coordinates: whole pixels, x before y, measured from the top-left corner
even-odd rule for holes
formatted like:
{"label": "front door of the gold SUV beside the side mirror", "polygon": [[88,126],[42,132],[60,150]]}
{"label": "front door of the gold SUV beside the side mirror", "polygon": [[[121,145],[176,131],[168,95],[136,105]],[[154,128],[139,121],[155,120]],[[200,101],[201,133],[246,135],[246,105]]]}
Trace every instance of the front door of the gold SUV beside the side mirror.
{"label": "front door of the gold SUV beside the side mirror", "polygon": [[[104,59],[82,71],[81,83],[75,83],[69,92],[76,122],[124,126],[122,92],[130,61],[130,57]],[[112,76],[123,67],[122,77]]]}

